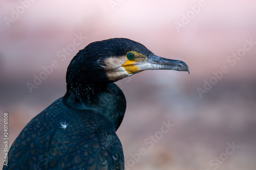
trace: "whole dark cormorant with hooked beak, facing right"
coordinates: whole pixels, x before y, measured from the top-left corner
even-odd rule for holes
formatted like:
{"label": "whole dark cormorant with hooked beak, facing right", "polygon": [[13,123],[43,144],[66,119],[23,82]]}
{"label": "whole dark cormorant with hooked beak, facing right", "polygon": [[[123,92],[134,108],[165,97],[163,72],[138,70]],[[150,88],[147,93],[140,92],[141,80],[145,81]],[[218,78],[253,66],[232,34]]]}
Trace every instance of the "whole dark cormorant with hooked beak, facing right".
{"label": "whole dark cormorant with hooked beak, facing right", "polygon": [[133,40],[112,38],[80,50],[67,70],[67,93],[20,132],[4,169],[124,169],[116,135],[126,109],[113,82],[143,70],[188,71]]}

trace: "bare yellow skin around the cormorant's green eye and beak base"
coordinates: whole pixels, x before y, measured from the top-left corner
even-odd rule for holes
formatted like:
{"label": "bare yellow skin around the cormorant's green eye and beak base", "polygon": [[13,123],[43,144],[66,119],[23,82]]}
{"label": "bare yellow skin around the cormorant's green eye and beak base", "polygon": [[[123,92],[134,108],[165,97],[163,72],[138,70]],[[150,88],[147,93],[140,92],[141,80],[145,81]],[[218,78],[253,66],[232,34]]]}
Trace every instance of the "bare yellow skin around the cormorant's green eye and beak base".
{"label": "bare yellow skin around the cormorant's green eye and beak base", "polygon": [[[133,53],[134,59],[127,58],[127,54]],[[134,74],[136,72],[142,71],[137,66],[136,63],[139,61],[145,61],[147,58],[143,54],[137,53],[135,51],[127,52],[125,55],[127,61],[122,64],[122,67],[127,71],[128,74]]]}

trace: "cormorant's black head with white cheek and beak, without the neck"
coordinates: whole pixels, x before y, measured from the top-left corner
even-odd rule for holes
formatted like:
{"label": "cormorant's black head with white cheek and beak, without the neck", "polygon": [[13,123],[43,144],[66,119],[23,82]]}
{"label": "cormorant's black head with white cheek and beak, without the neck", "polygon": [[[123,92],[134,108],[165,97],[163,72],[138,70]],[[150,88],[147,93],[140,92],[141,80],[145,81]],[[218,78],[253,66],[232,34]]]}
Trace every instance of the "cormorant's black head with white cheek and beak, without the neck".
{"label": "cormorant's black head with white cheek and beak, without the neck", "polygon": [[130,39],[112,38],[92,42],[80,50],[69,65],[67,83],[111,83],[143,70],[157,69],[189,73],[183,61],[159,57],[141,43]]}

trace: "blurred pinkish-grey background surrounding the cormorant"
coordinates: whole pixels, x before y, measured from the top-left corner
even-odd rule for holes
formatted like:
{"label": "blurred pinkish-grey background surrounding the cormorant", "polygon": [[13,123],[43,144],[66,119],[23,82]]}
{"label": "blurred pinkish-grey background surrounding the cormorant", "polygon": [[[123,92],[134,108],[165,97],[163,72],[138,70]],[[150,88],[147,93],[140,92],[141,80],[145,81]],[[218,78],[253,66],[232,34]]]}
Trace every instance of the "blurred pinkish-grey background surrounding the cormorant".
{"label": "blurred pinkish-grey background surrounding the cormorant", "polygon": [[[125,37],[190,68],[190,75],[150,70],[117,82],[127,100],[117,131],[125,169],[255,169],[255,6],[252,0],[2,0],[1,138],[4,112],[10,148],[36,114],[65,94],[66,70],[80,49]],[[42,73],[53,61],[57,66]],[[44,80],[36,85],[39,76]],[[163,122],[173,125],[166,133]],[[0,147],[4,155],[3,141]]]}

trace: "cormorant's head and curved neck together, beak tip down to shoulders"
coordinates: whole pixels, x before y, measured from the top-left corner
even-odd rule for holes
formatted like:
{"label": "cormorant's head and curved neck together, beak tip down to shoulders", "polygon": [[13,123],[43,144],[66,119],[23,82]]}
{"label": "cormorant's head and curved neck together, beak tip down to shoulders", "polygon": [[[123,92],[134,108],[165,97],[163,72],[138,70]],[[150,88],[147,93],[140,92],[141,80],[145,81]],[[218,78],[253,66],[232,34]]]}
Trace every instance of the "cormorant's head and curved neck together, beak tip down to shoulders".
{"label": "cormorant's head and curved neck together, beak tip down to shoulders", "polygon": [[93,110],[120,126],[126,108],[125,96],[113,84],[143,70],[188,71],[187,64],[156,56],[144,45],[126,38],[92,42],[80,50],[67,70],[67,93],[63,102],[75,109]]}

